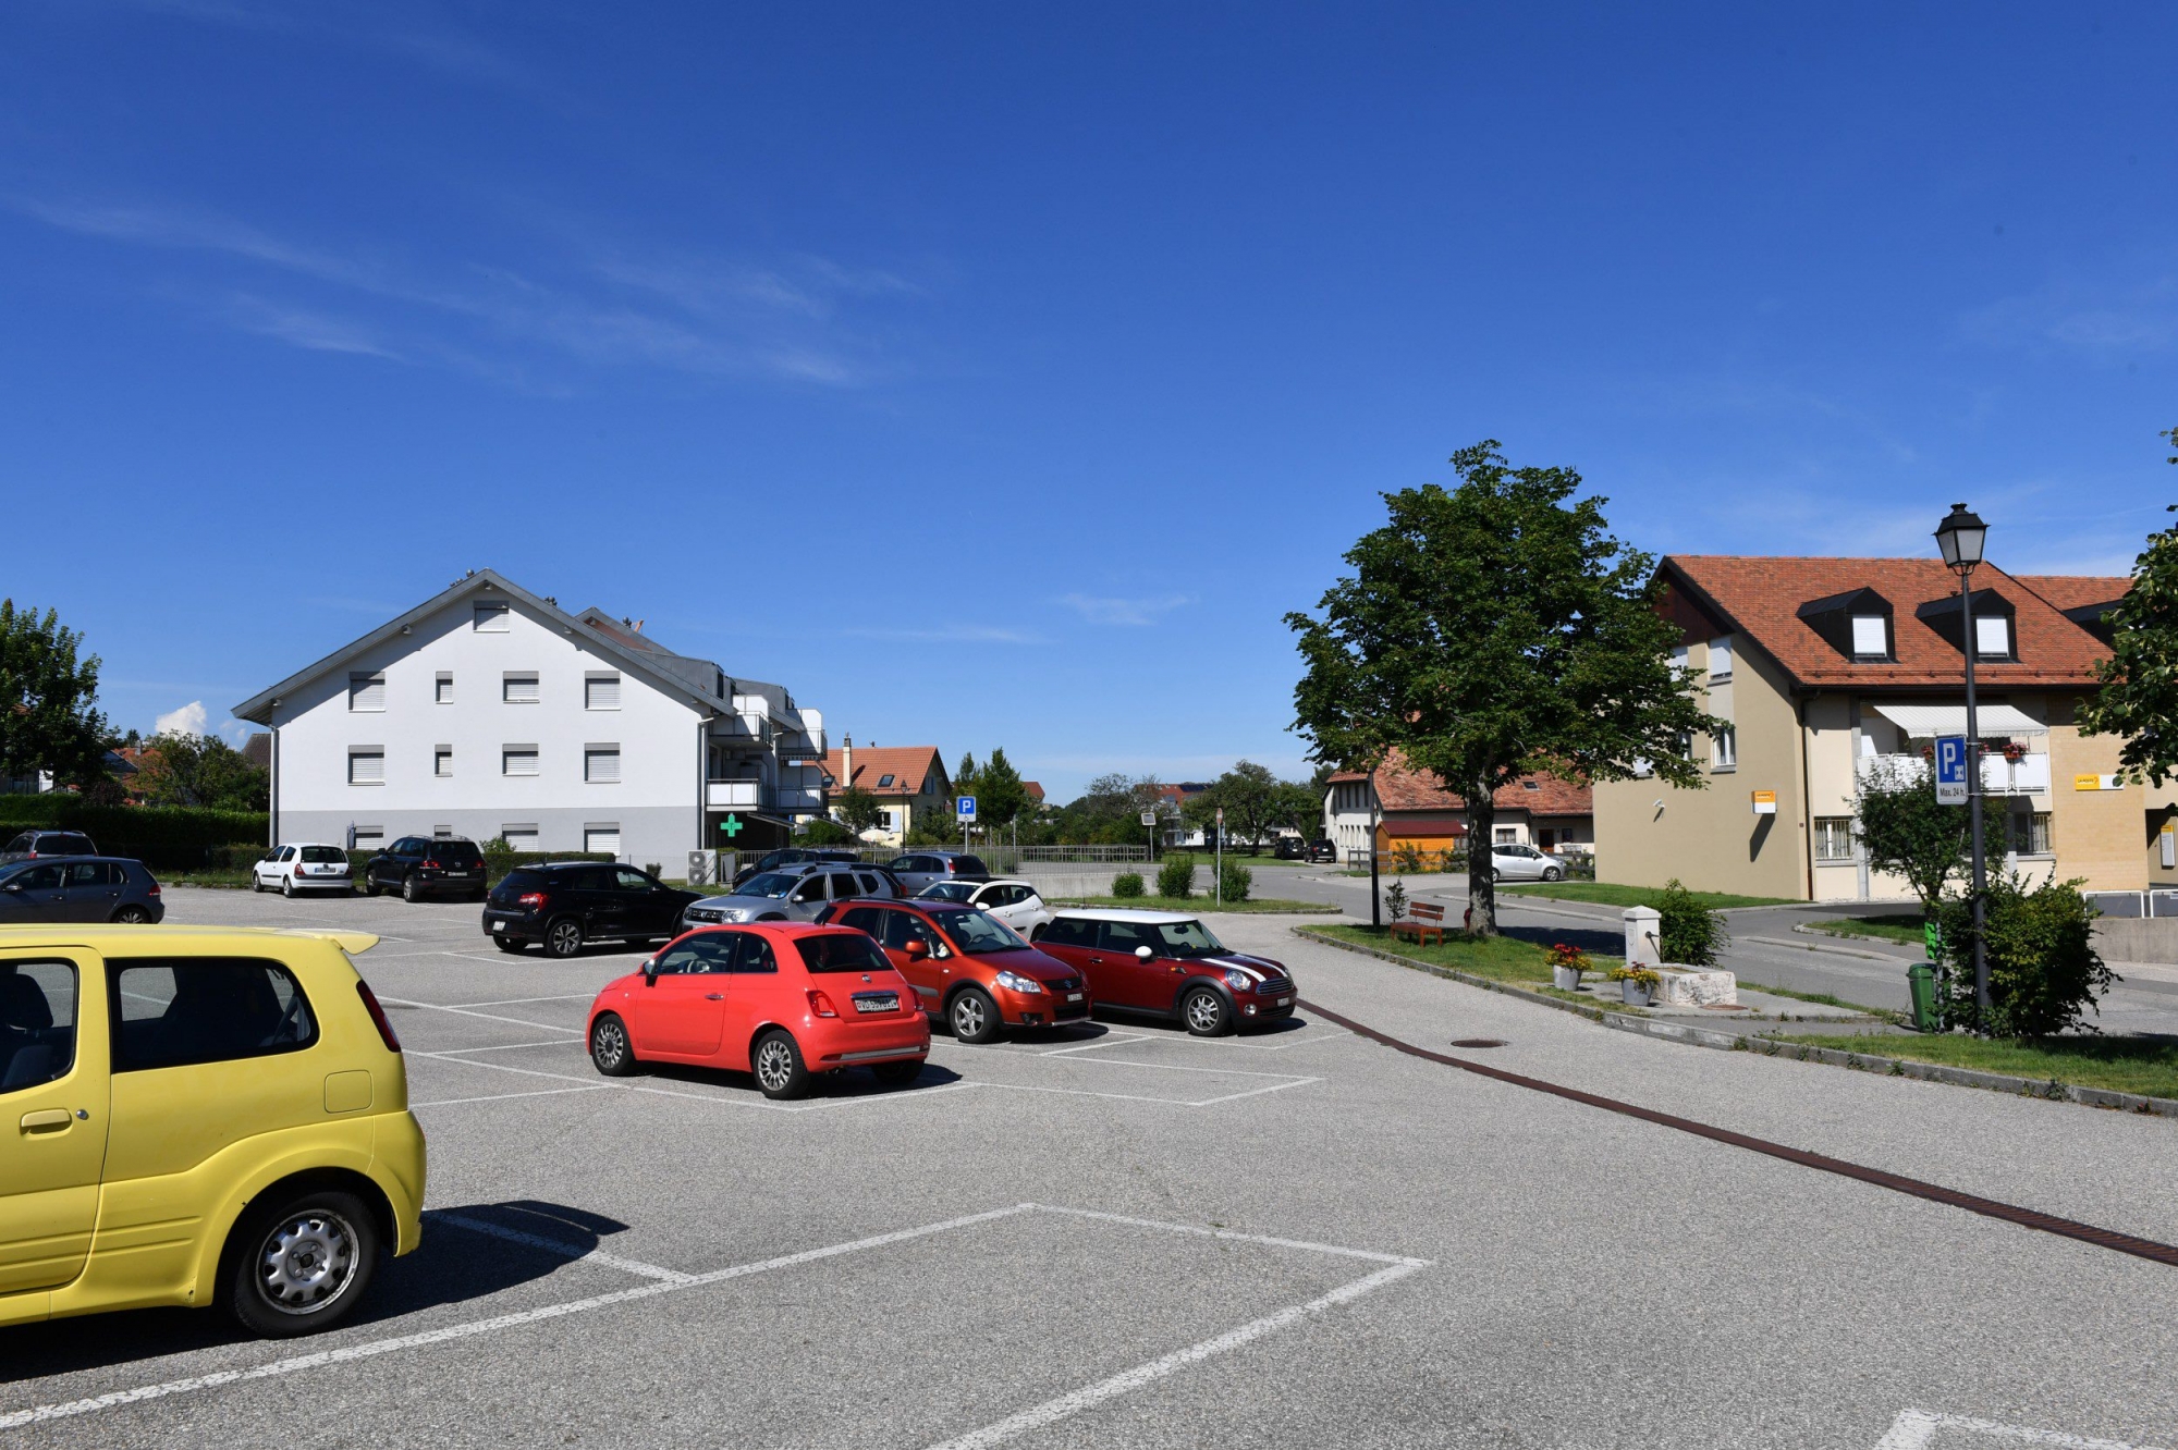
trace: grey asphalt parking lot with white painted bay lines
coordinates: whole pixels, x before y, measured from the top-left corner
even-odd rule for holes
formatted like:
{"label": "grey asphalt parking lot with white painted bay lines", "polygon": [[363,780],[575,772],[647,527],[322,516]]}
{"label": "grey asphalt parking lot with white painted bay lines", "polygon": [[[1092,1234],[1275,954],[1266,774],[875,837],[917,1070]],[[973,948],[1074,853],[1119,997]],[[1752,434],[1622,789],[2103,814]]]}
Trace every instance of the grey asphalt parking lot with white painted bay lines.
{"label": "grey asphalt parking lot with white painted bay lines", "polygon": [[[423,1248],[290,1343],[0,1330],[7,1446],[2178,1446],[2178,1267],[1416,1060],[1313,1012],[937,1039],[906,1091],[599,1078],[638,956],[351,925],[431,1141]],[[2161,1243],[2178,1126],[1675,1047],[1226,917],[1409,1043]]]}

